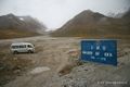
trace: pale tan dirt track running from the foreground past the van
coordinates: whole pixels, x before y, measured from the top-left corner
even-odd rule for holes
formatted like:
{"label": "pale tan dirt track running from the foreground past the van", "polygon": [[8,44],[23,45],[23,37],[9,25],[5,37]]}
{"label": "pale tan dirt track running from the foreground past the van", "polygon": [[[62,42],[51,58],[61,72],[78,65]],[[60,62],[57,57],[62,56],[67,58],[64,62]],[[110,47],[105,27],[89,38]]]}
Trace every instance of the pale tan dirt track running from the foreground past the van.
{"label": "pale tan dirt track running from the foreground past the van", "polygon": [[[4,87],[61,87],[57,71],[67,63],[68,51],[78,49],[79,40],[76,38],[30,37],[20,39],[0,40],[0,45],[10,46],[12,42],[27,41],[36,47],[34,54],[17,54],[17,59],[32,61],[31,69]],[[9,48],[6,48],[9,51]]]}

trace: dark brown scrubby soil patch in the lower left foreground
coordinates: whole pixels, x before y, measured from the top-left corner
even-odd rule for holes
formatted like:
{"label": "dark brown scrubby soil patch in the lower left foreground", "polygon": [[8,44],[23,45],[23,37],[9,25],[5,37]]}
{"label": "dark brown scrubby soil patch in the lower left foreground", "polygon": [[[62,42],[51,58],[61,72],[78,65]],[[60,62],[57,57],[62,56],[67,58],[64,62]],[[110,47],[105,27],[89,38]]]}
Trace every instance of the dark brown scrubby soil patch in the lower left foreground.
{"label": "dark brown scrubby soil patch in the lower left foreground", "polygon": [[30,60],[0,52],[0,87],[22,75],[30,65]]}

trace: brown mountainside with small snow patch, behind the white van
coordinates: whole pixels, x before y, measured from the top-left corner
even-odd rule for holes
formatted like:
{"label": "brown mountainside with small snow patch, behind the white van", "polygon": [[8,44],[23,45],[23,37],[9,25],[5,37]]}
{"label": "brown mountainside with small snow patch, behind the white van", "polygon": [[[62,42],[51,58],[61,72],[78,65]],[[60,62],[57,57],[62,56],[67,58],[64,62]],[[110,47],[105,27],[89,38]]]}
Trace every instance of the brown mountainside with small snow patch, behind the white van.
{"label": "brown mountainside with small snow patch, behind the white van", "polygon": [[47,27],[30,16],[0,16],[0,39],[36,36]]}

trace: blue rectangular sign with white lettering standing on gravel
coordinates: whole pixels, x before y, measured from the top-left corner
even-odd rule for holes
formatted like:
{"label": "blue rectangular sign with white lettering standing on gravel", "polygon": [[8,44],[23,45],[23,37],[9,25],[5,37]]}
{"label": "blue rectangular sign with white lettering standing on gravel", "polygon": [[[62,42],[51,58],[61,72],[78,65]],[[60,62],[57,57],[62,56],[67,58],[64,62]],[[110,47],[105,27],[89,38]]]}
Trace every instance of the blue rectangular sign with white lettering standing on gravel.
{"label": "blue rectangular sign with white lettering standing on gravel", "polygon": [[82,40],[81,60],[117,65],[117,41]]}

